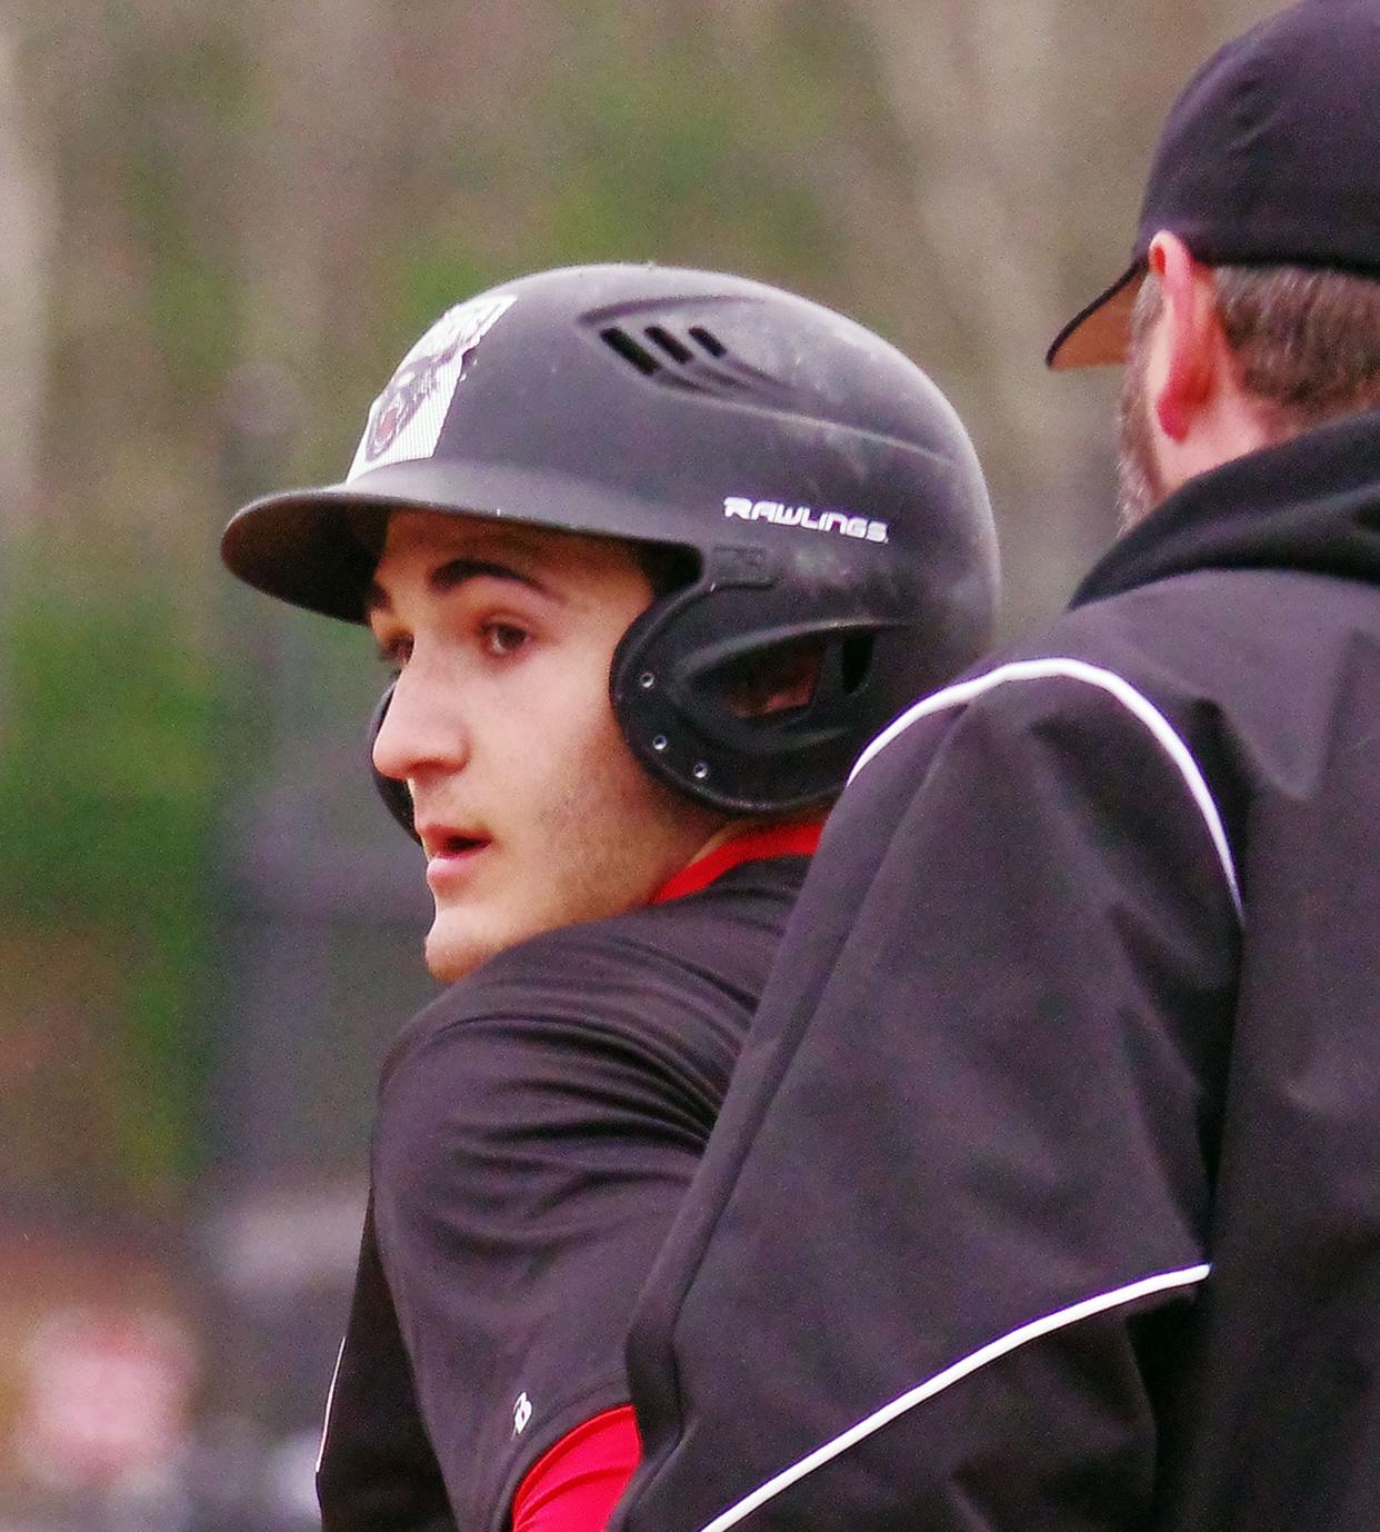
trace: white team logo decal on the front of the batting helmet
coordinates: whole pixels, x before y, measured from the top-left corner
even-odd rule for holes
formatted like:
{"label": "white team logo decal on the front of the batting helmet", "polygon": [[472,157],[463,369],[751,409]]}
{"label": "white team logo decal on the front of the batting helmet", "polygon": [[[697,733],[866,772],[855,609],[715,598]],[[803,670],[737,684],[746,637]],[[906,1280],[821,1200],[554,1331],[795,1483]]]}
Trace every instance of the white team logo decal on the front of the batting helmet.
{"label": "white team logo decal on the front of the batting helmet", "polygon": [[466,362],[515,302],[502,293],[472,299],[432,325],[374,401],[348,480],[384,463],[435,452]]}

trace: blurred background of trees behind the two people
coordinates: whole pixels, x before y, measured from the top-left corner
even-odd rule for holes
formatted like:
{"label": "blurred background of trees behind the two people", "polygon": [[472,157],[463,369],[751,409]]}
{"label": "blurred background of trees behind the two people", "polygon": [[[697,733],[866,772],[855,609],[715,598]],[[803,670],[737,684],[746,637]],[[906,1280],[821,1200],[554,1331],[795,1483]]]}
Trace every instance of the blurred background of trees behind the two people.
{"label": "blurred background of trees behind the two people", "polygon": [[303,1532],[374,1072],[426,999],[354,630],[237,588],[447,305],[741,271],[871,325],[986,464],[1006,627],[1112,533],[1052,378],[1247,0],[0,6],[0,1532]]}

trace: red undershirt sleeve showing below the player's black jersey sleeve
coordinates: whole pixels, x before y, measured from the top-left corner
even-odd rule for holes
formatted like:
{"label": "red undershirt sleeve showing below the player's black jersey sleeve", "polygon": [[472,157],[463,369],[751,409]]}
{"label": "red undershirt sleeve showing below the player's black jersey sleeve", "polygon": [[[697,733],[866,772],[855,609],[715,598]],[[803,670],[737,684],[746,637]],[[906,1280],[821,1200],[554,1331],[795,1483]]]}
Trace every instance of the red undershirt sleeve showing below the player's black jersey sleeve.
{"label": "red undershirt sleeve showing below the player's black jersey sleeve", "polygon": [[640,1457],[631,1405],[582,1422],[527,1471],[513,1495],[513,1532],[603,1532]]}

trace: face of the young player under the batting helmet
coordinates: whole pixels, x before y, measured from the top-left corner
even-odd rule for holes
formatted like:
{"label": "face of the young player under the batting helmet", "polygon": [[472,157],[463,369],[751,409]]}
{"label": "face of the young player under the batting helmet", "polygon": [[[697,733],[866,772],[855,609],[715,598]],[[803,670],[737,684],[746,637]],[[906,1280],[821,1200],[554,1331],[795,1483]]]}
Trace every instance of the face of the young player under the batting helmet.
{"label": "face of the young player under the batting helmet", "polygon": [[610,660],[651,601],[623,545],[398,512],[374,579],[369,625],[398,669],[374,763],[412,792],[438,979],[643,904],[718,829],[614,722]]}

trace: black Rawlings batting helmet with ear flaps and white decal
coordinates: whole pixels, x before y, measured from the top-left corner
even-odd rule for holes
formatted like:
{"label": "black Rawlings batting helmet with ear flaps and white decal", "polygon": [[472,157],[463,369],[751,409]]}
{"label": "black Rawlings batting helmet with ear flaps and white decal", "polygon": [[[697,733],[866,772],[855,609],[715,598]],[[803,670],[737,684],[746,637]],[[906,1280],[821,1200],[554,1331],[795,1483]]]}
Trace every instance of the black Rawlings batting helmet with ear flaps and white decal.
{"label": "black Rawlings batting helmet with ear flaps and white decal", "polygon": [[[573,267],[458,305],[375,401],[345,481],[247,506],[222,553],[361,622],[404,506],[685,550],[694,576],[628,628],[610,692],[649,772],[732,813],[833,797],[991,634],[991,510],[948,400],[862,326],[741,277]],[[807,705],[728,705],[726,674],[801,642],[824,656]]]}

